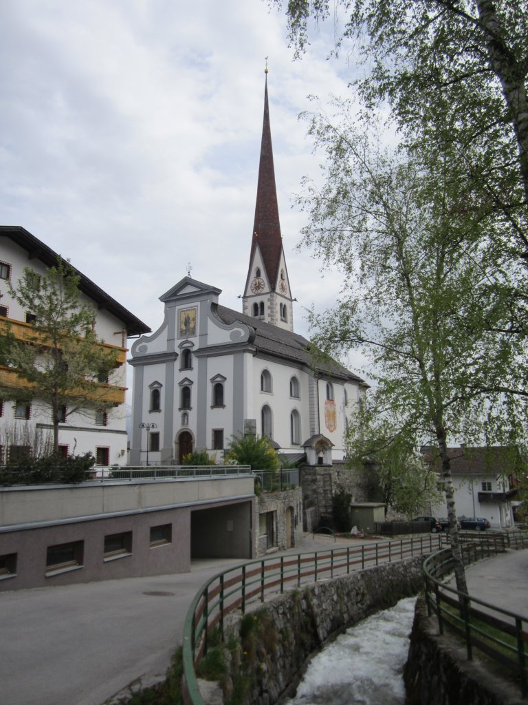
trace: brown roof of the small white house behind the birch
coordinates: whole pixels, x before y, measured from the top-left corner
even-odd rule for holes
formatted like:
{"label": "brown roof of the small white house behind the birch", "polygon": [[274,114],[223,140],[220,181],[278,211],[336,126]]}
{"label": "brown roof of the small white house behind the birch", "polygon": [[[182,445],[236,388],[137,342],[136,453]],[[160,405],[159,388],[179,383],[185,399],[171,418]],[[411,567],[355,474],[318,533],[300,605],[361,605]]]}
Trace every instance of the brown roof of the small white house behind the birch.
{"label": "brown roof of the small white house behind the birch", "polygon": [[[441,460],[436,448],[423,446],[421,450],[425,462],[433,464],[436,472],[441,472]],[[453,475],[508,475],[515,473],[520,465],[519,450],[514,446],[463,446],[447,450]]]}

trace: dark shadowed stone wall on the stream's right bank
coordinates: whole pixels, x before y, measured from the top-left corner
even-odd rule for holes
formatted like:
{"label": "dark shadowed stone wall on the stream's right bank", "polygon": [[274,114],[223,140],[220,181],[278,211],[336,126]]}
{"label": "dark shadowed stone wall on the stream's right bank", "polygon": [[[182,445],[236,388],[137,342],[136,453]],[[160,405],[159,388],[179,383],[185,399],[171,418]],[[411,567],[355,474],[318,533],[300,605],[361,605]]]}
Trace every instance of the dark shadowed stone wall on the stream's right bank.
{"label": "dark shadowed stone wall on the stream's right bank", "polygon": [[515,684],[494,675],[491,663],[474,655],[467,661],[465,644],[439,636],[436,618],[427,616],[420,596],[410,635],[404,672],[408,705],[526,705]]}

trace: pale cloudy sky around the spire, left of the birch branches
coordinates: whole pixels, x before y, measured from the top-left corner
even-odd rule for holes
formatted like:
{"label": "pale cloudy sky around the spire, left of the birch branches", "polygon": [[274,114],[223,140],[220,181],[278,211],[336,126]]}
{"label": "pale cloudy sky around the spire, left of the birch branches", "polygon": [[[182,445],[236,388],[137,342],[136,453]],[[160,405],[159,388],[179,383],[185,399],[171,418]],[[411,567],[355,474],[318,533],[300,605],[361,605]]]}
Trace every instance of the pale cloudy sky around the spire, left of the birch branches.
{"label": "pale cloudy sky around the spire, left of the birch branches", "polygon": [[339,277],[295,249],[306,216],[292,197],[318,173],[298,114],[352,78],[345,59],[327,60],[325,32],[293,61],[265,0],[0,0],[1,224],[68,257],[153,330],[158,297],[188,263],[241,309],[268,56],[282,235],[307,335],[303,307],[332,305]]}

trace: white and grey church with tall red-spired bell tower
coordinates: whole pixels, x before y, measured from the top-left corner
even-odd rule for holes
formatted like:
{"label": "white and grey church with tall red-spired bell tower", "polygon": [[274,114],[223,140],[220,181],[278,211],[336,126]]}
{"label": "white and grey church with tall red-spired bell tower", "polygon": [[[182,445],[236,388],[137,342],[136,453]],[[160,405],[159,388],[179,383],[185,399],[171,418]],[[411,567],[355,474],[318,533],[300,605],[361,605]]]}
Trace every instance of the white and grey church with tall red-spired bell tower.
{"label": "white and grey church with tall red-spired bell tower", "polygon": [[184,277],[160,297],[161,327],[132,345],[130,464],[180,464],[193,450],[222,462],[230,438],[243,433],[268,436],[291,464],[342,462],[348,418],[367,384],[338,362],[316,360],[294,332],[267,72],[242,312],[222,306],[221,293]]}

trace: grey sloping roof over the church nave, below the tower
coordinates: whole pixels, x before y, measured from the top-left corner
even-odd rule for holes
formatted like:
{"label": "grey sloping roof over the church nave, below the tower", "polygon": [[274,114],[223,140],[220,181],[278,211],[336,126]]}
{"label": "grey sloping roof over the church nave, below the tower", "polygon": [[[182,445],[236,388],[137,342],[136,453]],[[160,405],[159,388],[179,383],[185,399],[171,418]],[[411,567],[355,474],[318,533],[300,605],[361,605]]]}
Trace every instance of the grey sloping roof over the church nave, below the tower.
{"label": "grey sloping roof over the church nave, below the tower", "polygon": [[362,386],[368,386],[360,377],[350,372],[339,362],[329,359],[324,361],[315,359],[310,353],[310,341],[307,341],[303,336],[299,336],[298,333],[292,333],[278,326],[273,326],[270,323],[246,316],[225,306],[213,305],[212,310],[224,323],[233,324],[239,321],[239,323],[246,324],[246,326],[255,331],[253,345],[255,345],[258,353],[267,353],[268,355],[281,357],[283,360],[306,365],[306,367],[315,369],[321,376],[334,377],[334,379],[341,381],[359,382]]}

